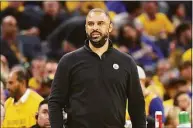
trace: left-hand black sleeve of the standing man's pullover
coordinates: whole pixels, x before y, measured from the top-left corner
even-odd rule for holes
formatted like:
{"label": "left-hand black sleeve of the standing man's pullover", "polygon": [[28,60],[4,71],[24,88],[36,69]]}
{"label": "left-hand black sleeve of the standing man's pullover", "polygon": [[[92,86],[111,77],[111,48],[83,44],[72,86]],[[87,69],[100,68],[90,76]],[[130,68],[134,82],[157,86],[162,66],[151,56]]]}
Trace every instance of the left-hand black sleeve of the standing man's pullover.
{"label": "left-hand black sleeve of the standing man's pullover", "polygon": [[49,118],[52,128],[63,128],[62,109],[68,101],[69,59],[64,55],[60,60],[48,98]]}

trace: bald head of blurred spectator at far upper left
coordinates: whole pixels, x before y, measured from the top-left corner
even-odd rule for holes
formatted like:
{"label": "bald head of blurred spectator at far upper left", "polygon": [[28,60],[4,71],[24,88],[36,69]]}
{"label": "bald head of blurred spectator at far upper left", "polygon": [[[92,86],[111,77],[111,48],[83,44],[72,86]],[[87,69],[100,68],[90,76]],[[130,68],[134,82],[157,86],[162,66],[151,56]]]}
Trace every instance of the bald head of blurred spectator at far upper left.
{"label": "bald head of blurred spectator at far upper left", "polygon": [[14,37],[17,33],[17,21],[13,16],[6,16],[2,21],[3,37]]}

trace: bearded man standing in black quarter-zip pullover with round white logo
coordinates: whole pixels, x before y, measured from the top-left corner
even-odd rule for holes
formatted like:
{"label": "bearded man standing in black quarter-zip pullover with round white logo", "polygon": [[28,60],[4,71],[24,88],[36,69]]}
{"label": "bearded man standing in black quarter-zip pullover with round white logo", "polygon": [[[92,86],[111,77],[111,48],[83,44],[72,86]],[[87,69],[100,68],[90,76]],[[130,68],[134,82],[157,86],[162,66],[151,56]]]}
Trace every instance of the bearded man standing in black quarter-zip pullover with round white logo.
{"label": "bearded man standing in black quarter-zip pullover with round white logo", "polygon": [[133,128],[146,128],[137,67],[131,56],[112,47],[108,14],[92,9],[85,27],[84,47],[58,64],[48,102],[51,127],[63,127],[65,107],[68,128],[123,128],[128,99]]}

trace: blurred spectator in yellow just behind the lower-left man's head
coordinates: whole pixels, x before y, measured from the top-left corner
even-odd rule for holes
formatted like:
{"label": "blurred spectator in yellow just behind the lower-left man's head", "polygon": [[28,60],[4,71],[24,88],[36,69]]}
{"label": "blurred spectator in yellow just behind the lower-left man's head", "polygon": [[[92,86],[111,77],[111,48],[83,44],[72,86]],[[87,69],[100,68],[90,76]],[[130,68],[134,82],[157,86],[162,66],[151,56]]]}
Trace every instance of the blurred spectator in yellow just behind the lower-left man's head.
{"label": "blurred spectator in yellow just behind the lower-left man's head", "polygon": [[46,66],[46,58],[37,57],[34,58],[31,62],[31,73],[32,78],[29,79],[29,87],[34,90],[41,88],[42,81],[44,79]]}

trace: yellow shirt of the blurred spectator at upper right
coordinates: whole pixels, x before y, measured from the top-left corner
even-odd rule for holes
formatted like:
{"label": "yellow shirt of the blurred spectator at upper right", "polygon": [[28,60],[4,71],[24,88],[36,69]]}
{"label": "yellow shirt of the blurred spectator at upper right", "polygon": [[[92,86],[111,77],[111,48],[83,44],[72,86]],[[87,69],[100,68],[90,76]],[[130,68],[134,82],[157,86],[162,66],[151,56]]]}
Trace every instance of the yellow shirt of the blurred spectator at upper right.
{"label": "yellow shirt of the blurred spectator at upper right", "polygon": [[156,13],[154,20],[150,20],[146,13],[143,13],[137,17],[137,21],[142,24],[145,33],[150,36],[158,37],[162,31],[166,33],[172,33],[174,31],[174,26],[163,13]]}

